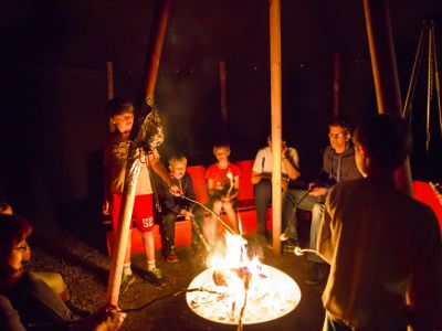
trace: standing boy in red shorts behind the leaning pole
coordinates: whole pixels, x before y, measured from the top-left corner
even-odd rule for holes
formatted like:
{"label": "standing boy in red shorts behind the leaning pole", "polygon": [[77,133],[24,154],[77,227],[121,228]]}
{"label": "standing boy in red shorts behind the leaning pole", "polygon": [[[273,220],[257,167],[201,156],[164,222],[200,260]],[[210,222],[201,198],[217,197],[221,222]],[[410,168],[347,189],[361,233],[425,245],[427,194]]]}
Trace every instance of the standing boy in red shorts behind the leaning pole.
{"label": "standing boy in red shorts behind the leaning pole", "polygon": [[[134,125],[134,105],[129,102],[113,99],[108,103],[107,110],[110,121],[115,125],[116,129],[108,135],[104,148],[105,201],[103,213],[110,215],[113,228],[116,231],[123,197],[126,159],[130,143],[128,138]],[[156,149],[148,153],[139,151],[139,157],[146,163],[146,167],[141,167],[136,183],[133,222],[141,234],[146,252],[147,273],[144,276],[151,285],[160,287],[166,284],[162,279],[161,270],[156,267],[155,261],[152,188],[148,168],[158,173],[168,186],[170,186],[170,180],[165,166],[159,160],[160,157]],[[131,227],[133,224],[130,224]],[[129,235],[123,267],[120,292],[124,292],[134,280],[135,277],[130,268]]]}

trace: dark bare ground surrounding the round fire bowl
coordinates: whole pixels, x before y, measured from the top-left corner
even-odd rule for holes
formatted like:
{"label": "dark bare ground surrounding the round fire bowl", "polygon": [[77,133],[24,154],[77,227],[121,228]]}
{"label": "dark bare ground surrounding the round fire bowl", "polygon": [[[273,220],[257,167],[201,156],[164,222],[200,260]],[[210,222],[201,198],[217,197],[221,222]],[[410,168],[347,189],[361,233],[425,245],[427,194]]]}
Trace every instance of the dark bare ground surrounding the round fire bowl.
{"label": "dark bare ground surrounding the round fire bowl", "polygon": [[[87,245],[73,235],[59,231],[50,238],[34,238],[31,243],[33,257],[29,268],[62,274],[72,292],[70,307],[78,314],[94,311],[106,301],[107,277],[110,258],[103,252]],[[243,330],[302,330],[322,329],[324,309],[320,286],[304,285],[311,263],[293,253],[274,256],[264,247],[264,264],[283,270],[299,286],[302,299],[291,313],[271,322],[246,324]],[[179,263],[167,263],[157,252],[157,265],[162,269],[167,286],[155,288],[139,276],[145,268],[143,254],[133,256],[135,282],[119,297],[119,307],[130,310],[123,330],[236,330],[236,325],[211,322],[197,316],[188,306],[185,293],[171,296],[188,288],[190,281],[202,270],[201,260],[193,256],[190,246],[178,247]],[[152,300],[155,301],[148,307]]]}

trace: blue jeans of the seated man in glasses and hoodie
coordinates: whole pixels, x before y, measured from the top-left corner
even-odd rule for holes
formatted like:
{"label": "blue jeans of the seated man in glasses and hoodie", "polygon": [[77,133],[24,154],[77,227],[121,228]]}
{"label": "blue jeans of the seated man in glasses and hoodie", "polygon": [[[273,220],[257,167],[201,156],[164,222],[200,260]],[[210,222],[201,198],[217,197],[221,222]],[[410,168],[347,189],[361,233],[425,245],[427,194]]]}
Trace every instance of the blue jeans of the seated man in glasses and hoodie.
{"label": "blue jeans of the seated man in glasses and hoodie", "polygon": [[[283,195],[283,225],[288,237],[297,239],[297,210],[312,212],[317,203],[324,203],[325,195],[315,196],[307,194],[306,190],[287,190]],[[322,216],[322,214],[320,214]],[[319,221],[320,221],[319,216]],[[312,215],[313,217],[313,215]]]}

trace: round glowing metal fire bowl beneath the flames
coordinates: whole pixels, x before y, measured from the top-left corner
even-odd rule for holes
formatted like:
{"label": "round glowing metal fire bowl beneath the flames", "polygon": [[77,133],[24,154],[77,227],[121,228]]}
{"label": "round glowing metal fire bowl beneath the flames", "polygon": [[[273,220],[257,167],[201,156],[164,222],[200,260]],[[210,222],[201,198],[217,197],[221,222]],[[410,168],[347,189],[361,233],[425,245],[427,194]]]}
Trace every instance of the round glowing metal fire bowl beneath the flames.
{"label": "round glowing metal fire bowl beneath the flames", "polygon": [[[254,324],[271,321],[294,310],[301,300],[301,290],[296,281],[285,273],[267,265],[262,265],[261,278],[251,285],[248,292],[242,323]],[[187,303],[194,313],[213,322],[238,324],[244,295],[217,286],[213,281],[213,269],[199,274],[189,285],[189,289],[204,288],[207,291],[189,291]],[[222,293],[222,295],[221,295]],[[235,303],[233,303],[235,302]]]}

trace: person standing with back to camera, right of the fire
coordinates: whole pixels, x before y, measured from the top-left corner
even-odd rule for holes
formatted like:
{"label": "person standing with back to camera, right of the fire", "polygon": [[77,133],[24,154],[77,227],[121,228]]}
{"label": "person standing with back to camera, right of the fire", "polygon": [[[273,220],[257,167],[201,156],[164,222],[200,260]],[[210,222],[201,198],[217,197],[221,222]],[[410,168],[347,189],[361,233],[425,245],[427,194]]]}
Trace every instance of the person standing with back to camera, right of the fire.
{"label": "person standing with back to camera, right of the fire", "polygon": [[438,220],[394,185],[410,152],[407,122],[377,115],[354,141],[364,179],[332,190],[319,228],[318,250],[332,266],[323,330],[442,330]]}

